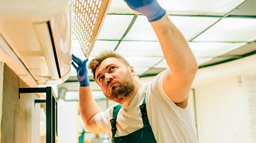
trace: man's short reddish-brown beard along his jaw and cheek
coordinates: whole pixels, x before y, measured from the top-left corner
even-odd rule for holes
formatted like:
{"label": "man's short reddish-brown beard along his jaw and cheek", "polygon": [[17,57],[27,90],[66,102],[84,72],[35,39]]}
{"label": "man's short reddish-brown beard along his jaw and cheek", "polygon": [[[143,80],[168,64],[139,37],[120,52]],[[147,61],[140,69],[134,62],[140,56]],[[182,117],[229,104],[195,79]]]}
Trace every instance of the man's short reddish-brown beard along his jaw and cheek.
{"label": "man's short reddish-brown beard along his jaw and cheek", "polygon": [[122,103],[127,98],[131,97],[131,95],[134,93],[134,88],[135,86],[133,83],[133,78],[127,71],[127,74],[124,76],[123,83],[120,83],[118,86],[112,86],[112,93],[109,100]]}

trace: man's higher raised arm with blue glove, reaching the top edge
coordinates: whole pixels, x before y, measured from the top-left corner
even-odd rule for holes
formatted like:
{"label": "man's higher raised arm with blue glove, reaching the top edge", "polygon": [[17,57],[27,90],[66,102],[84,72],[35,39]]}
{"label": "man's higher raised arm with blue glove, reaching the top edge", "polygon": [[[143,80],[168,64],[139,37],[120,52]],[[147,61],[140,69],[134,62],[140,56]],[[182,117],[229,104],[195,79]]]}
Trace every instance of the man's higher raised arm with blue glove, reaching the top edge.
{"label": "man's higher raised arm with blue glove, reaching the top edge", "polygon": [[179,107],[187,106],[187,97],[197,71],[196,59],[188,43],[165,14],[156,0],[125,0],[133,10],[144,14],[150,21],[168,68],[163,76],[163,88]]}

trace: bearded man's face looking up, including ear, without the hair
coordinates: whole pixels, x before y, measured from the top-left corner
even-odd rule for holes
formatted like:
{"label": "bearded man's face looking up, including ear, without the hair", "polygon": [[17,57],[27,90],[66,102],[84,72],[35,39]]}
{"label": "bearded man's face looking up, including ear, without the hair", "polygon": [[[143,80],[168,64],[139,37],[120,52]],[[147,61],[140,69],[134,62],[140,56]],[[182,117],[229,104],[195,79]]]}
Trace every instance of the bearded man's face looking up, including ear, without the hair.
{"label": "bearded man's face looking up, including ear, without the hair", "polygon": [[135,88],[132,72],[131,66],[125,67],[118,59],[109,57],[96,68],[95,80],[109,100],[122,103]]}

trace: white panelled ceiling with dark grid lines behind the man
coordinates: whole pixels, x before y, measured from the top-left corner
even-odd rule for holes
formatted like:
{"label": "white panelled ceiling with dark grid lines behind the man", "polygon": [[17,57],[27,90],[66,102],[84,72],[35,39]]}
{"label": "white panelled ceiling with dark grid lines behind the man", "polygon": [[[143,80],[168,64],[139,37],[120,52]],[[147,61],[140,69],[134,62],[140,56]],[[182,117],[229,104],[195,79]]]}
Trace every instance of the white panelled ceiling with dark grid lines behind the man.
{"label": "white panelled ceiling with dark grid lines behind the man", "polygon": [[[184,35],[199,68],[256,54],[256,0],[158,0]],[[89,61],[102,50],[123,55],[140,77],[167,67],[160,43],[144,15],[112,0]],[[73,54],[85,59],[73,36]],[[89,78],[93,80],[92,74]],[[68,81],[76,81],[71,68]]]}

